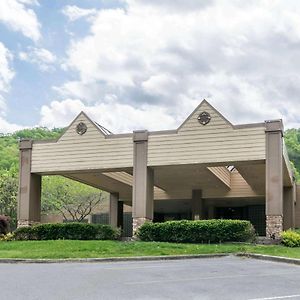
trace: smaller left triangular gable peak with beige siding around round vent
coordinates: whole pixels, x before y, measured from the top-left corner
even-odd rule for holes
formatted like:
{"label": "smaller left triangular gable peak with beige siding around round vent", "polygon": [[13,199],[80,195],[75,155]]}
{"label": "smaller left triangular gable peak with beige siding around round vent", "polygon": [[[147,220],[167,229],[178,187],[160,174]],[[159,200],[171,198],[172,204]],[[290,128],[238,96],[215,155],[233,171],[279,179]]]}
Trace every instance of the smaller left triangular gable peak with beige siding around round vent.
{"label": "smaller left triangular gable peak with beige siding around round vent", "polygon": [[[78,124],[83,123],[86,125],[86,132],[79,134],[77,132]],[[70,138],[88,138],[91,134],[99,132],[100,136],[105,137],[105,133],[101,130],[101,127],[98,126],[94,121],[92,121],[85,112],[80,112],[79,115],[71,122],[71,124],[64,130],[63,134],[58,138],[57,142],[61,142],[65,139]]]}

